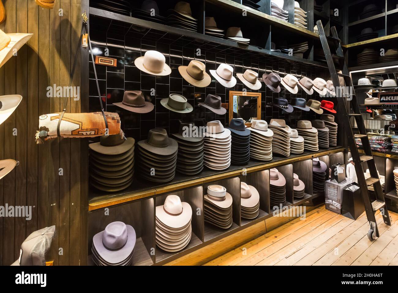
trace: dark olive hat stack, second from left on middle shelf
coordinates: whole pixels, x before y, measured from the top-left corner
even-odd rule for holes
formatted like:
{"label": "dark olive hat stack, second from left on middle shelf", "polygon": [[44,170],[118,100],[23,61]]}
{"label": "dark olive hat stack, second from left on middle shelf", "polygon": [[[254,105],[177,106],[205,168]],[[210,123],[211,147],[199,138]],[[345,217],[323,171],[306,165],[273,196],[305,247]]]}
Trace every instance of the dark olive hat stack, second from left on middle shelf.
{"label": "dark olive hat stack, second from left on middle shelf", "polygon": [[148,139],[138,142],[137,171],[144,179],[167,182],[176,174],[178,143],[163,128],[149,130]]}

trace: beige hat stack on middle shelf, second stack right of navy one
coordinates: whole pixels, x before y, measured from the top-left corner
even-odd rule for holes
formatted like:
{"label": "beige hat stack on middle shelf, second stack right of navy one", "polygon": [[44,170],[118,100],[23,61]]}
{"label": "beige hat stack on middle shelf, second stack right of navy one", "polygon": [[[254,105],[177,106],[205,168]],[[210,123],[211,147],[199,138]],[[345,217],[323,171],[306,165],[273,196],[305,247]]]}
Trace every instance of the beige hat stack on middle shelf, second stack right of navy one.
{"label": "beige hat stack on middle shelf, second stack right of navy one", "polygon": [[283,119],[271,119],[268,127],[273,131],[272,152],[289,157],[291,128]]}

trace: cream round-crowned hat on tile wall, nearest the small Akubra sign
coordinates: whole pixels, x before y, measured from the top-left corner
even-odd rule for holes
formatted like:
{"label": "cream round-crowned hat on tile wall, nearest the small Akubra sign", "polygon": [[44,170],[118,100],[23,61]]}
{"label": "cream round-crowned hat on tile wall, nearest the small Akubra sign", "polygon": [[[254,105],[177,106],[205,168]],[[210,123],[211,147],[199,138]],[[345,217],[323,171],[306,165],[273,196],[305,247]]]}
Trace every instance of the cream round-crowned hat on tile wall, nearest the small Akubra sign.
{"label": "cream round-crowned hat on tile wall, nearest the small Akubra sign", "polygon": [[149,50],[146,51],[144,56],[138,57],[134,60],[135,66],[146,73],[152,75],[169,75],[172,70],[166,64],[166,58],[158,51]]}

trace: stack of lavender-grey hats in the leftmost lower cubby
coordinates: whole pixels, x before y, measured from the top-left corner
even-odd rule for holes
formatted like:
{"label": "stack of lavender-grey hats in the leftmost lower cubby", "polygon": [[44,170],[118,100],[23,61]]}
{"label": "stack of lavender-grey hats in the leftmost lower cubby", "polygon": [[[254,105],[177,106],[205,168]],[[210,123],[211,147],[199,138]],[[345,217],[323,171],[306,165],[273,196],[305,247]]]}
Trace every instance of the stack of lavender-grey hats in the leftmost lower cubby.
{"label": "stack of lavender-grey hats in the leftmost lower cubby", "polygon": [[131,265],[137,240],[132,226],[111,222],[93,237],[92,260],[96,265]]}

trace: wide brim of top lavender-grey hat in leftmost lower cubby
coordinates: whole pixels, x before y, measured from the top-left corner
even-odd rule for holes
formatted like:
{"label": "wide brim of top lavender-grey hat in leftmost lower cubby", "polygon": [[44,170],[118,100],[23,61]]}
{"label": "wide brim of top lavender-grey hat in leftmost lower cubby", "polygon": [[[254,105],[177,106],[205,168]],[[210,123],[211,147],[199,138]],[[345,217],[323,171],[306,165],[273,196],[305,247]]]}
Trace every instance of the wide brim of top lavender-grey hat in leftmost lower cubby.
{"label": "wide brim of top lavender-grey hat in leftmost lower cubby", "polygon": [[126,260],[131,252],[133,252],[136,242],[136,234],[135,230],[132,226],[126,225],[127,228],[127,242],[125,246],[123,246],[119,250],[108,250],[103,246],[102,237],[104,231],[97,233],[93,237],[93,246],[95,250],[98,252],[98,255],[105,261],[110,264],[116,264],[123,262]]}

